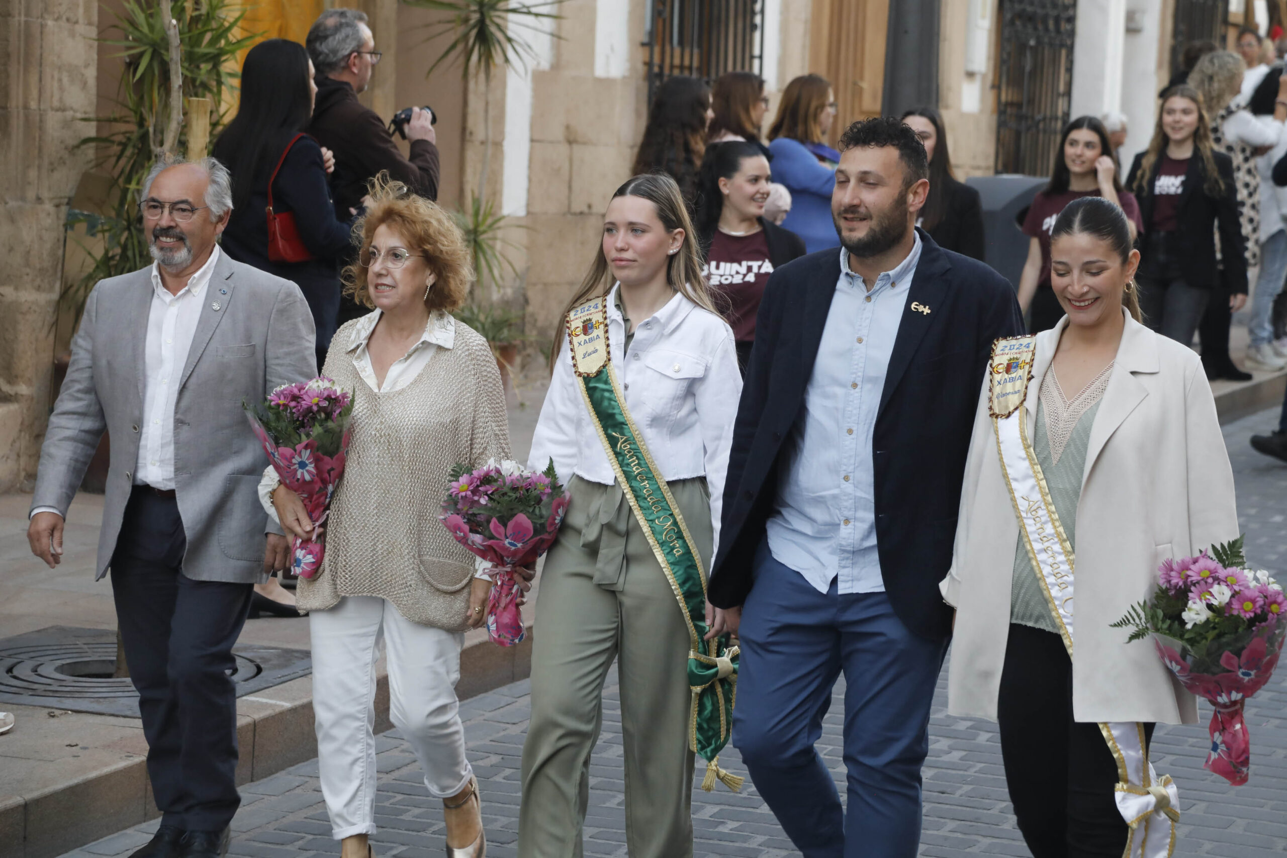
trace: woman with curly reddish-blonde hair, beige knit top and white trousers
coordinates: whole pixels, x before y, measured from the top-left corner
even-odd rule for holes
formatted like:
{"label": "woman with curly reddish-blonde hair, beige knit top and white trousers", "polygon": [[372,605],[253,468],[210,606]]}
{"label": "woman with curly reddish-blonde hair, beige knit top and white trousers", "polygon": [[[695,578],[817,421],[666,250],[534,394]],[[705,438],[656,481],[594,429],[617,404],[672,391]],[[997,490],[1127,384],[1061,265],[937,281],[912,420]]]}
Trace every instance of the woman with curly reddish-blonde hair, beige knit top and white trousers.
{"label": "woman with curly reddish-blonde hair, beige knit top and white trousers", "polygon": [[[505,396],[486,341],[450,315],[474,278],[461,230],[386,174],[371,196],[345,284],[373,311],[336,332],[324,369],[353,394],[347,464],[324,527],[326,560],[297,590],[310,611],[322,795],[340,854],[371,855],[384,638],[390,717],[429,794],[443,800],[448,855],[479,858],[486,839],[456,683],[465,630],[483,623],[490,581],[476,576],[438,511],[453,464],[510,457]],[[290,534],[323,530],[272,468],[260,489]]]}

